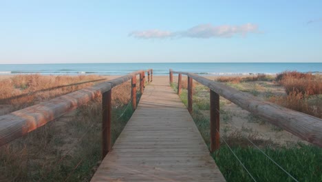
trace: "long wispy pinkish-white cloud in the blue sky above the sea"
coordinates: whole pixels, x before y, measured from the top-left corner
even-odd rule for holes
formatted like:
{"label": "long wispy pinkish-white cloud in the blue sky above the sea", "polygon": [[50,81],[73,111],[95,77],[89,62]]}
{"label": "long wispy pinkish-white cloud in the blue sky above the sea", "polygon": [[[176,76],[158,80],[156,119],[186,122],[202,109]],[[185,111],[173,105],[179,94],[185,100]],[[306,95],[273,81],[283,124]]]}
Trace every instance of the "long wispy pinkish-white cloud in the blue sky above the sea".
{"label": "long wispy pinkish-white cloud in the blue sky above the sea", "polygon": [[237,34],[246,36],[248,33],[258,33],[258,26],[253,23],[246,23],[241,26],[213,26],[211,24],[202,24],[189,28],[188,30],[171,32],[164,30],[144,30],[133,31],[129,33],[129,36],[136,37],[138,39],[165,39],[174,37],[189,37],[199,39],[210,38],[230,38]]}

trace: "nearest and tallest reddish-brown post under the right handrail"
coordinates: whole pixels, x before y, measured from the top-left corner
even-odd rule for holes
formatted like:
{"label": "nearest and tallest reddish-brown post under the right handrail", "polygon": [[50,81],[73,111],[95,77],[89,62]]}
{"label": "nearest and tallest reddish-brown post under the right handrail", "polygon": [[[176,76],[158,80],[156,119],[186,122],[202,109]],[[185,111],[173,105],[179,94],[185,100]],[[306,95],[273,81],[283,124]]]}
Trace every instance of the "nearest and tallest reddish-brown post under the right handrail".
{"label": "nearest and tallest reddish-brown post under the right handrail", "polygon": [[210,128],[211,128],[211,152],[215,152],[215,150],[219,150],[220,147],[220,135],[219,135],[219,94],[210,92],[210,104],[211,104],[211,116],[210,116]]}

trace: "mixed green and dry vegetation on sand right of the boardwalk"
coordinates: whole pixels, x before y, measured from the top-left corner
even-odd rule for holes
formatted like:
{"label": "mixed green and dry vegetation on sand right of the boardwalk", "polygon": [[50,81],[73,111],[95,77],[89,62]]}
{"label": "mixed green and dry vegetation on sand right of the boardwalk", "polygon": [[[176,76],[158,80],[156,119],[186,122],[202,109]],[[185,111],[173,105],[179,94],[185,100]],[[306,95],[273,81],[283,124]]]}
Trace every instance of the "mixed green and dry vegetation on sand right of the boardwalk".
{"label": "mixed green and dry vegetation on sand right of the boardwalk", "polygon": [[[276,94],[272,88],[268,87],[272,84],[262,84],[263,88],[259,88],[256,86],[257,83],[258,81],[250,83],[253,86],[245,85],[243,82],[228,82],[227,84],[238,85],[244,92],[254,92],[255,94],[253,95],[255,97],[268,99],[284,107],[295,107],[294,109],[297,107],[308,108],[308,110],[311,110],[310,114],[312,112],[315,114],[318,112],[322,113],[320,110],[321,105],[315,104],[320,101],[317,99],[321,99],[321,95],[304,97],[305,99],[303,99],[303,95],[299,95],[301,93],[298,92]],[[177,85],[173,83],[174,90],[176,90],[176,87]],[[200,85],[200,87],[203,86]],[[206,90],[206,88],[198,88],[195,90],[197,92],[193,92],[193,112],[191,116],[202,134],[204,141],[209,145],[209,94],[200,93],[202,90]],[[263,90],[263,92],[259,90]],[[180,99],[187,105],[187,91],[185,89],[182,90]],[[241,128],[237,128],[233,125],[234,120],[238,117],[244,117],[251,125],[258,124],[261,125],[261,128],[267,127],[271,132],[283,131],[275,125],[266,123],[266,121],[254,114],[249,113],[245,115],[237,113],[236,111],[225,110],[224,106],[227,103],[230,105],[230,103],[222,97],[220,97],[220,103],[221,147],[211,155],[217,163],[219,170],[224,174],[226,181],[253,181],[248,172],[253,175],[256,181],[294,181],[292,177],[277,167],[258,148],[272,160],[276,161],[298,181],[320,181],[322,179],[320,165],[322,159],[321,148],[305,142],[287,142],[281,144],[272,139],[264,138],[261,133],[257,132],[256,128],[248,125],[241,125]],[[241,163],[239,163],[235,155],[243,163],[248,172],[241,166]]]}

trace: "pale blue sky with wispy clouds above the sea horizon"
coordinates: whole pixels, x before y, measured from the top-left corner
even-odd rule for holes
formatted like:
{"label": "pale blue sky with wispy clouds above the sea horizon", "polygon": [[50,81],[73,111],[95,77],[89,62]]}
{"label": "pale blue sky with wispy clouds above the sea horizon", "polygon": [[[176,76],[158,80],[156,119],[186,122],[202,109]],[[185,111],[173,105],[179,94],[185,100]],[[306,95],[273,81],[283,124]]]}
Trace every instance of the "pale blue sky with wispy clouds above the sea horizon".
{"label": "pale blue sky with wispy clouds above the sea horizon", "polygon": [[322,1],[0,0],[0,63],[322,62]]}

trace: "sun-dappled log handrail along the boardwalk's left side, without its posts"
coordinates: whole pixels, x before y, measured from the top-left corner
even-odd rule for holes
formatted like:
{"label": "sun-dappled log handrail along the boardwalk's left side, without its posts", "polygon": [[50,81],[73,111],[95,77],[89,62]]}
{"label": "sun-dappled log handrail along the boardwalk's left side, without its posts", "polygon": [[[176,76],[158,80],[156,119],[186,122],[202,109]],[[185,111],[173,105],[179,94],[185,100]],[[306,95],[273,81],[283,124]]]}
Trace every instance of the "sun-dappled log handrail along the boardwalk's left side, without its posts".
{"label": "sun-dappled log handrail along the boardwalk's left side, without its posts", "polygon": [[[0,146],[18,139],[28,132],[32,132],[46,123],[58,119],[63,114],[78,108],[78,106],[95,99],[105,92],[109,92],[116,85],[125,83],[129,79],[136,77],[142,72],[151,71],[140,70],[131,72],[117,79],[112,79],[103,83],[98,83],[89,88],[84,88],[61,97],[51,99],[44,103],[32,105],[23,110],[18,110],[10,114],[0,116]],[[104,100],[104,99],[103,99]],[[103,105],[103,111],[105,110]]]}

